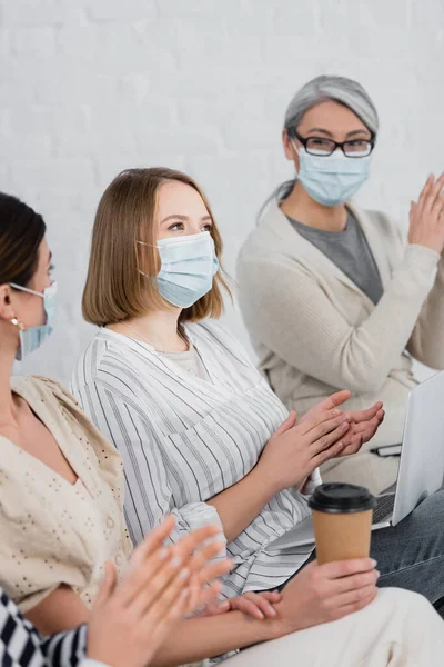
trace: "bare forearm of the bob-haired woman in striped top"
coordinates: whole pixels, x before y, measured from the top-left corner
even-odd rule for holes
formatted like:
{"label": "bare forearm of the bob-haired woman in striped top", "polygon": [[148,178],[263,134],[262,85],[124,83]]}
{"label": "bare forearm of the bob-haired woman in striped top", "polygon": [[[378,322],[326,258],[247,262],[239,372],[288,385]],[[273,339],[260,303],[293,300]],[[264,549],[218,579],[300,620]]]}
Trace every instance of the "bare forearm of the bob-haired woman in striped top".
{"label": "bare forearm of the bob-haired woman in striped top", "polygon": [[278,490],[258,464],[241,481],[208,500],[218,510],[226,541],[235,539]]}

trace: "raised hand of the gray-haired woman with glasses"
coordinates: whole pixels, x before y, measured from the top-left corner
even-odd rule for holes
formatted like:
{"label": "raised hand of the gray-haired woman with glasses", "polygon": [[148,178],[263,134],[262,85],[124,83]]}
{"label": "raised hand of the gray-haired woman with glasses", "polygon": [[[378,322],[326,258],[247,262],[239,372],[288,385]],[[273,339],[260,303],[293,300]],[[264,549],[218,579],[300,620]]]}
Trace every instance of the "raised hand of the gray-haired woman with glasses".
{"label": "raised hand of the gray-haired woman with glasses", "polygon": [[431,175],[417,202],[410,209],[408,242],[424,246],[441,255],[444,248],[444,173],[438,179]]}

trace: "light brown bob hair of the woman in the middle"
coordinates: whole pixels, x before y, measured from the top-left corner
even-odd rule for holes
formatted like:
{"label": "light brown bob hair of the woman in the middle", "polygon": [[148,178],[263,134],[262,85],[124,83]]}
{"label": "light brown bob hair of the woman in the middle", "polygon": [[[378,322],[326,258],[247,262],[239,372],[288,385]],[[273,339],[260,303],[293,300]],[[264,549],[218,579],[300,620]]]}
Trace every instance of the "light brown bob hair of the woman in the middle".
{"label": "light brown bob hair of the woman in the middle", "polygon": [[[82,299],[83,317],[88,322],[102,327],[140,317],[149,311],[171,308],[157,288],[155,276],[161,261],[154,223],[159,189],[170,180],[194,188],[202,197],[213,222],[211,236],[221,261],[221,236],[210,205],[192,178],[164,167],[125,169],[108,186],[95,213]],[[222,267],[214,276],[209,293],[190,308],[183,309],[180,321],[219,318],[223,312],[221,288],[231,297],[228,277]]]}

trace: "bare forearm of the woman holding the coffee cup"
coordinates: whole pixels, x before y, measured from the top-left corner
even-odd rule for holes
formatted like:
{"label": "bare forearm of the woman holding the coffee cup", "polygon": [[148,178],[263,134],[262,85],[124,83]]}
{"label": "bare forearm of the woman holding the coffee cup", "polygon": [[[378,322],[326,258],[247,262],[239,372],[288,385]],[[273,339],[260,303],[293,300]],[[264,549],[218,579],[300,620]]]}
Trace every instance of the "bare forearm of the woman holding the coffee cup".
{"label": "bare forearm of the woman holding the coffee cup", "polygon": [[150,663],[172,667],[243,648],[286,634],[279,619],[256,620],[241,611],[179,621]]}

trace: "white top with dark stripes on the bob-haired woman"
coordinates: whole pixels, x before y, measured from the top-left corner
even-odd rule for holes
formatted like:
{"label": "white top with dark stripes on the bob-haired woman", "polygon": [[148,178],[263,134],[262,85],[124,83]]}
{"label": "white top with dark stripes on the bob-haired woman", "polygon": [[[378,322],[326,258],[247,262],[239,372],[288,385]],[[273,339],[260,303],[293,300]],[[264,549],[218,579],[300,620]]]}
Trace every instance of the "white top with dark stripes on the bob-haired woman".
{"label": "white top with dark stripes on the bob-haired woman", "polygon": [[[242,479],[287,410],[226,330],[185,327],[209,380],[191,377],[151,346],[101,329],[79,360],[72,391],[123,457],[125,518],[134,544],[168,514],[173,536],[219,522],[206,500]],[[285,464],[283,464],[285,465]],[[223,595],[279,586],[307,555],[264,547],[309,515],[295,489],[276,494],[232,542]]]}

